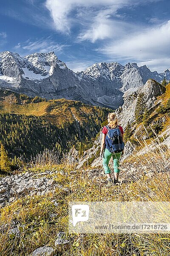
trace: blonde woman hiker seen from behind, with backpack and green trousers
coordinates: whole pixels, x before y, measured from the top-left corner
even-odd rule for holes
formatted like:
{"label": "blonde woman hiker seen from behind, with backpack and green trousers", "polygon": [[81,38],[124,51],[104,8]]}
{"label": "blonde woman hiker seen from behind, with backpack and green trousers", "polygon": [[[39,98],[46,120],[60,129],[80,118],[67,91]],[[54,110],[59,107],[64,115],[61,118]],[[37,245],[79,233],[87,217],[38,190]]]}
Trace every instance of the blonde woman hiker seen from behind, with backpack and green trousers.
{"label": "blonde woman hiker seen from behind, with backpack and green trousers", "polygon": [[[123,128],[118,125],[118,119],[115,113],[108,114],[108,125],[102,129],[102,143],[100,156],[103,159],[103,167],[108,177],[107,187],[119,183],[119,160],[124,154],[124,136]],[[108,166],[109,160],[113,158],[114,180],[111,178],[111,170]]]}

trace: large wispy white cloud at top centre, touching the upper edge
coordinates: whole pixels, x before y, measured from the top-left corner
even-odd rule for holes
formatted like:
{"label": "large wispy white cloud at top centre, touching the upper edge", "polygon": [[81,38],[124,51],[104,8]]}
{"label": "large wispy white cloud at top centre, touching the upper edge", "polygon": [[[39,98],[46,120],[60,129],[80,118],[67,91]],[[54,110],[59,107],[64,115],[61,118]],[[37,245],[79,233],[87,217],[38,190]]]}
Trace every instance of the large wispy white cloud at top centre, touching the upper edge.
{"label": "large wispy white cloud at top centre, touching the upper edge", "polygon": [[[116,23],[111,19],[118,17],[116,12],[122,7],[158,1],[161,0],[46,0],[45,6],[51,13],[56,30],[69,34],[75,24],[83,25],[78,39],[94,43],[97,39],[110,38],[116,34],[112,34]],[[86,16],[81,9],[86,9]]]}

